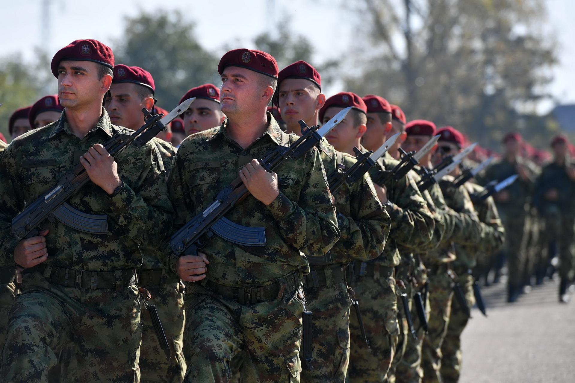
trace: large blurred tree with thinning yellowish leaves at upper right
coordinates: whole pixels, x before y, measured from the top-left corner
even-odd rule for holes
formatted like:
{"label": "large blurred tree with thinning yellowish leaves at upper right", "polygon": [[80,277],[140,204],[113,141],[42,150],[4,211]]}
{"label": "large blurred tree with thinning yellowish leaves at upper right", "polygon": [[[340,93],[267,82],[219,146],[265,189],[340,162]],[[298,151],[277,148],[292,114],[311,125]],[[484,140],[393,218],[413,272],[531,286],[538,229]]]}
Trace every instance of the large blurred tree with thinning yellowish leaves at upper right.
{"label": "large blurred tree with thinning yellowish leaves at upper right", "polygon": [[481,145],[545,129],[520,118],[546,96],[556,62],[543,0],[362,0],[354,10],[368,37],[354,48],[349,90],[384,95],[408,119],[453,125]]}

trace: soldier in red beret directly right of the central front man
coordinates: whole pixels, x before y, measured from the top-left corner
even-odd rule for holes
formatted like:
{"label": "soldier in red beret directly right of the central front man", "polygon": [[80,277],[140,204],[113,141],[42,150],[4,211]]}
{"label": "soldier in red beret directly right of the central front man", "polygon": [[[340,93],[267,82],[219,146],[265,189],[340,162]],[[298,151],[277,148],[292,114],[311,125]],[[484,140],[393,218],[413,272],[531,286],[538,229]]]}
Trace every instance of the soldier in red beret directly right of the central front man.
{"label": "soldier in red beret directly right of the central front man", "polygon": [[[301,135],[300,119],[308,126],[318,125],[324,103],[320,74],[311,65],[296,61],[279,72],[277,105],[287,133]],[[355,140],[350,144],[355,144]],[[325,141],[319,149],[328,175],[338,171],[338,164],[349,169],[356,162],[355,157],[337,152]],[[304,277],[307,308],[313,312],[314,342],[313,369],[302,371],[303,382],[345,381],[350,359],[351,308],[345,270],[351,261],[378,257],[389,234],[389,214],[381,206],[369,175],[352,185],[343,184],[333,198],[341,238],[325,256],[308,257],[311,270]]]}

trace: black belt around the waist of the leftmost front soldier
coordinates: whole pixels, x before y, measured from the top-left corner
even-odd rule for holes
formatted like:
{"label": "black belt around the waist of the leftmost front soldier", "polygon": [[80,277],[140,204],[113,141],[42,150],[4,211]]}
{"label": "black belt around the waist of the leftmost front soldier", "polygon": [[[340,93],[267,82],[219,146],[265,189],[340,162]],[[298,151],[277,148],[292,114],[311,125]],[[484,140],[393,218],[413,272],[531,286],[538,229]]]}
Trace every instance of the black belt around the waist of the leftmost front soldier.
{"label": "black belt around the waist of the leftmost front soldier", "polygon": [[39,272],[40,274],[44,274],[44,271],[47,268],[52,268],[52,270],[50,270],[50,275],[46,277],[46,280],[50,283],[65,287],[93,290],[116,288],[117,291],[121,291],[125,287],[136,284],[135,269],[117,271],[85,271],[40,264],[33,268],[25,269],[25,272]]}

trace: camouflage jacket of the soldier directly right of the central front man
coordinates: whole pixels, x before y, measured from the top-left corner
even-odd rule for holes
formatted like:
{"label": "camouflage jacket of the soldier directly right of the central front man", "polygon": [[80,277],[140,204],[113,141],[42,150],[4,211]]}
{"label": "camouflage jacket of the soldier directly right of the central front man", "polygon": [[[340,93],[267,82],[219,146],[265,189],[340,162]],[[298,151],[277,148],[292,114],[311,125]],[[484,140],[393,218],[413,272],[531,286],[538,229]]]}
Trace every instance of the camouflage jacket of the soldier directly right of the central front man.
{"label": "camouflage jacket of the soldier directly right of the central front man", "polygon": [[[320,146],[325,173],[338,171],[338,164],[351,168],[356,160],[337,152],[324,139]],[[368,261],[384,250],[391,219],[375,193],[369,175],[351,186],[344,183],[333,194],[341,237],[330,250],[333,262]]]}

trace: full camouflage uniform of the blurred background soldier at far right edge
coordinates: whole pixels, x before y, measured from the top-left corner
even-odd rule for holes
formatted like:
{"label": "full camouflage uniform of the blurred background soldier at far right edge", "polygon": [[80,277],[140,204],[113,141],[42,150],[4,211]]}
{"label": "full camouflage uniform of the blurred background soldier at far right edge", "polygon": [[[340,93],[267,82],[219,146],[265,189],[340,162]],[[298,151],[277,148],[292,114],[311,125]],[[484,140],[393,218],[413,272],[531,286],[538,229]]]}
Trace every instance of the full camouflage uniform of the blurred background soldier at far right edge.
{"label": "full camouflage uniform of the blurred background soldier at far right edge", "polygon": [[[573,244],[575,234],[575,202],[573,192],[575,181],[567,173],[567,167],[575,164],[566,159],[567,165],[559,165],[555,161],[543,167],[535,184],[534,204],[539,214],[545,218],[545,232],[543,242],[559,243],[559,276],[561,277],[561,289],[566,288],[566,283],[575,277],[575,259]],[[546,199],[545,194],[550,189],[557,189],[557,200]],[[563,286],[565,285],[565,286]],[[565,293],[563,291],[563,293]],[[561,293],[562,295],[562,293]]]}

